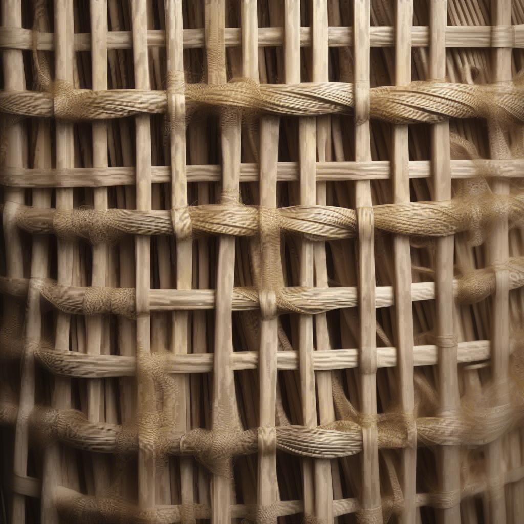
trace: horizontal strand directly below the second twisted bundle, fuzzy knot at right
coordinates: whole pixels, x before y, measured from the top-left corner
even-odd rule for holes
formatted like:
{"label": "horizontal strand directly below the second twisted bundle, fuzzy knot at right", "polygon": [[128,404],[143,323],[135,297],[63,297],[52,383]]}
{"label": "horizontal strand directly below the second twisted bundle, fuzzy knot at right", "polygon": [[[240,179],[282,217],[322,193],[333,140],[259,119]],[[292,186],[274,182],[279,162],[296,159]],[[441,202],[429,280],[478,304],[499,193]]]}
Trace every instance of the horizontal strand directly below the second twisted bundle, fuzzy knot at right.
{"label": "horizontal strand directly below the second twisted bundle, fuzzy knot at right", "polygon": [[[524,257],[509,259],[504,266],[509,272],[509,288],[524,286]],[[496,268],[471,271],[453,280],[453,294],[459,303],[471,304],[486,299],[496,291]],[[24,297],[29,279],[8,279],[0,277],[0,292],[15,297]],[[133,288],[97,288],[56,285],[46,280],[41,294],[54,307],[66,313],[102,314],[118,313],[134,316],[135,290]],[[280,312],[307,310],[311,314],[332,309],[356,307],[358,288],[330,287],[305,288],[284,287],[280,290],[278,307]],[[216,291],[214,289],[151,289],[149,292],[151,311],[205,310],[213,309]],[[413,282],[413,302],[433,300],[434,282]],[[394,291],[391,286],[375,288],[375,307],[394,305]],[[236,287],[232,296],[233,311],[249,311],[260,308],[258,291],[254,288]],[[294,308],[291,309],[291,308]]]}

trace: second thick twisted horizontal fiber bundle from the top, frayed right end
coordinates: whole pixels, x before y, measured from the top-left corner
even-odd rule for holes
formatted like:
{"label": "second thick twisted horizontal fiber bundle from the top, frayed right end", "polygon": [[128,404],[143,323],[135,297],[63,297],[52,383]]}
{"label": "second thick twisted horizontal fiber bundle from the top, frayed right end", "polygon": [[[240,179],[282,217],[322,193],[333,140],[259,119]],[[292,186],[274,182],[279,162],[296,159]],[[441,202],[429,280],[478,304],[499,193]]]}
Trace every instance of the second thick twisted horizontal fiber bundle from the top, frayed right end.
{"label": "second thick twisted horizontal fiber bundle from the top, frayed right end", "polygon": [[[462,231],[489,231],[507,216],[512,226],[522,222],[524,193],[508,196],[481,194],[440,202],[383,204],[373,208],[376,230],[410,236],[445,236]],[[174,214],[176,211],[176,214]],[[132,211],[109,209],[36,210],[20,207],[18,226],[30,233],[54,233],[59,238],[89,238],[93,243],[114,241],[122,234],[180,235],[204,233],[255,236],[264,209],[248,205],[200,205],[183,210]],[[183,213],[183,217],[180,216]],[[177,221],[182,220],[183,224]],[[291,206],[275,210],[282,233],[299,233],[312,240],[354,238],[357,213],[331,206]],[[180,228],[184,231],[180,231]]]}

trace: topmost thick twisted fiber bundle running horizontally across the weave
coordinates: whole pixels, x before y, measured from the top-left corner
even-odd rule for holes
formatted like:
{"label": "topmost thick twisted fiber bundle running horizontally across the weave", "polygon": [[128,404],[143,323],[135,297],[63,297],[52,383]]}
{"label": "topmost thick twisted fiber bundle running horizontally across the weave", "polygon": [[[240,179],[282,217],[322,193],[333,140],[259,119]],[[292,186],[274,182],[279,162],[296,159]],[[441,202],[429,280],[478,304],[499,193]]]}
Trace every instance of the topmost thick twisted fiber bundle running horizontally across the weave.
{"label": "topmost thick twisted fiber bundle running horizontally across the weave", "polygon": [[[233,79],[223,85],[185,84],[169,91],[82,91],[72,89],[66,81],[56,81],[52,93],[3,92],[0,112],[73,121],[123,118],[139,113],[165,114],[168,92],[184,96],[188,113],[213,107],[249,113],[320,116],[346,113],[355,107],[354,85],[344,82],[279,85]],[[369,89],[369,117],[392,124],[436,123],[448,117],[521,122],[523,94],[520,77],[515,83],[493,85],[412,82],[407,86],[376,87]]]}

